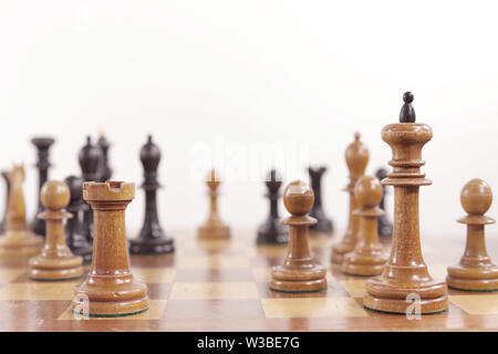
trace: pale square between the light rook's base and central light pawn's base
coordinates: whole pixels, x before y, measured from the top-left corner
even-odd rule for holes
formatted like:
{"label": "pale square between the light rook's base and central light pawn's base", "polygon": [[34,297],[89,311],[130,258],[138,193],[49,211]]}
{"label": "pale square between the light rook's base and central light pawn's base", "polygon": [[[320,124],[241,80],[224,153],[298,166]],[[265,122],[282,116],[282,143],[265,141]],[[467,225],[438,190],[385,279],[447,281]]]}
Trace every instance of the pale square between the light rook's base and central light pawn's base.
{"label": "pale square between the light rook's base and central light pawn's base", "polygon": [[169,299],[216,300],[216,299],[258,299],[253,282],[176,282]]}

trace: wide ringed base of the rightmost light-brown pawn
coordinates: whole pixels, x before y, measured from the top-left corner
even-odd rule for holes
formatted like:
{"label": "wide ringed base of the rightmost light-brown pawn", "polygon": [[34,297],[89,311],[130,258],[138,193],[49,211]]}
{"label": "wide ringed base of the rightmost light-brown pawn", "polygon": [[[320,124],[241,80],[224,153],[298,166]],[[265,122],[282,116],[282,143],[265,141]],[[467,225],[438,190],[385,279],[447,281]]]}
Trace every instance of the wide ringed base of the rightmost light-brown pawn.
{"label": "wide ringed base of the rightmost light-brown pawn", "polygon": [[471,268],[463,264],[448,267],[449,288],[464,291],[498,291],[498,267]]}

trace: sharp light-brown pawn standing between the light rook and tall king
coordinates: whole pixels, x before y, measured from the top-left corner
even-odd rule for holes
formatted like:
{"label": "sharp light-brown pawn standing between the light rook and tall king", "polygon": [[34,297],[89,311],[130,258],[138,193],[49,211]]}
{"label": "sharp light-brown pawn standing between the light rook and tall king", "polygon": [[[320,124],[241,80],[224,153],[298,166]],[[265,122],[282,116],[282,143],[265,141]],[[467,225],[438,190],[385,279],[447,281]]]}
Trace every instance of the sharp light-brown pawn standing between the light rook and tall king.
{"label": "sharp light-brown pawn standing between the light rook and tall king", "polygon": [[317,222],[308,216],[313,200],[313,189],[302,180],[290,183],[283,190],[283,204],[291,214],[281,221],[289,226],[289,246],[283,266],[271,270],[271,290],[299,293],[326,289],[326,269],[315,263],[308,241],[308,227]]}

